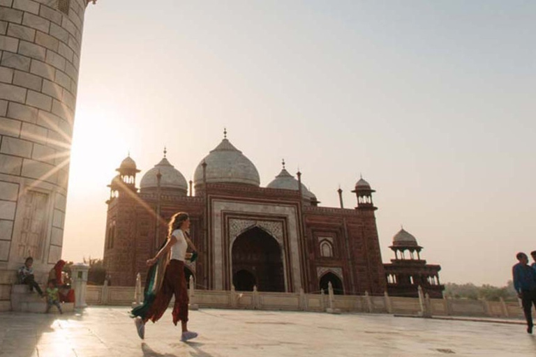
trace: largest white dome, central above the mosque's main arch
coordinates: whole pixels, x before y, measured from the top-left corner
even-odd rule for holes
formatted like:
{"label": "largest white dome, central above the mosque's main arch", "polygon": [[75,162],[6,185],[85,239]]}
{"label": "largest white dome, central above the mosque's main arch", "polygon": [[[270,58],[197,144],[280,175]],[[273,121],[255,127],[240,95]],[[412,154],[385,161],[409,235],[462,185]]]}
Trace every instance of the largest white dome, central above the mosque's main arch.
{"label": "largest white dome, central above the mosque's main arch", "polygon": [[207,183],[246,183],[260,185],[259,172],[251,162],[228,139],[223,139],[216,148],[210,151],[195,169],[193,182],[203,183],[202,163],[207,163]]}

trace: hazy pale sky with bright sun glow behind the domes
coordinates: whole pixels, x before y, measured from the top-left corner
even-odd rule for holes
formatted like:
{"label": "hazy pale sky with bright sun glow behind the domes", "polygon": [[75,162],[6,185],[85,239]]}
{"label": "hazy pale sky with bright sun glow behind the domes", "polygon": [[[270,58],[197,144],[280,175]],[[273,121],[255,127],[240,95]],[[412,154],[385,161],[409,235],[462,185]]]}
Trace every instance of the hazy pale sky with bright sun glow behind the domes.
{"label": "hazy pale sky with bright sun glow behind the domes", "polygon": [[536,250],[536,2],[99,0],[87,8],[64,258],[102,257],[106,187],[228,138],[322,202],[377,192],[442,282],[503,285]]}

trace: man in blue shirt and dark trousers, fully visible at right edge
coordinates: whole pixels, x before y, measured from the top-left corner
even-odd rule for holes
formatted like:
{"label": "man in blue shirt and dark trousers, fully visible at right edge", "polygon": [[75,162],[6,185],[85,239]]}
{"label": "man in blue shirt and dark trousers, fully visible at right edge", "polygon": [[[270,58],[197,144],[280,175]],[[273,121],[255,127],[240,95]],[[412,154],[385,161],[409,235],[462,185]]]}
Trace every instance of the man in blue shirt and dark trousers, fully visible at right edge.
{"label": "man in blue shirt and dark trousers, fully visible at right edge", "polygon": [[514,288],[517,296],[521,298],[523,312],[527,319],[527,332],[533,333],[533,304],[536,307],[536,271],[528,265],[528,257],[525,253],[519,252],[516,255],[519,263],[512,267],[514,276]]}

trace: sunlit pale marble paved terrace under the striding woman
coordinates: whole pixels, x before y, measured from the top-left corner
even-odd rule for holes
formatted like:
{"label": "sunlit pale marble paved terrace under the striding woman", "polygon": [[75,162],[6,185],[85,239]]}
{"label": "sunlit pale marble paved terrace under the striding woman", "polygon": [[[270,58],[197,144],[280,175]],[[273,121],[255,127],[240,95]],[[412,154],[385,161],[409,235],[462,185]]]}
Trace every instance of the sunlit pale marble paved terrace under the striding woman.
{"label": "sunlit pale marble paved terrace under the striding woman", "polygon": [[168,310],[142,341],[126,307],[4,312],[0,356],[536,356],[536,336],[523,325],[489,321],[202,309],[190,327],[200,337],[180,342]]}

